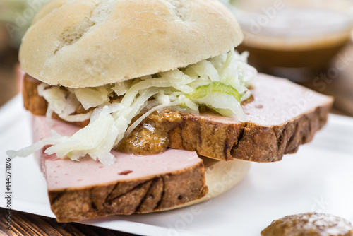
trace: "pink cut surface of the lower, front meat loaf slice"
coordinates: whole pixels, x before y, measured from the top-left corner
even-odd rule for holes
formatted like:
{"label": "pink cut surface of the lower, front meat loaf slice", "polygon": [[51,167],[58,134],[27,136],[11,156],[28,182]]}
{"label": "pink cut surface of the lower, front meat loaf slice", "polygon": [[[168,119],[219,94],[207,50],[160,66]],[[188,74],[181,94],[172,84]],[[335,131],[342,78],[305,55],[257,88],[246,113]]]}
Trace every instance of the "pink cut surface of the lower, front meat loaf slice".
{"label": "pink cut surface of the lower, front meat loaf slice", "polygon": [[[52,126],[49,127],[45,117],[33,117],[32,127],[35,134],[34,141],[51,136],[51,130],[63,136],[71,136],[79,129],[56,120],[53,120]],[[116,162],[109,167],[104,167],[102,163],[90,157],[72,161],[58,159],[56,155],[44,154],[41,163],[48,189],[67,189],[102,184],[102,182],[140,179],[183,170],[202,163],[196,152],[172,148],[157,155],[131,155],[117,151],[112,153],[116,156]]]}

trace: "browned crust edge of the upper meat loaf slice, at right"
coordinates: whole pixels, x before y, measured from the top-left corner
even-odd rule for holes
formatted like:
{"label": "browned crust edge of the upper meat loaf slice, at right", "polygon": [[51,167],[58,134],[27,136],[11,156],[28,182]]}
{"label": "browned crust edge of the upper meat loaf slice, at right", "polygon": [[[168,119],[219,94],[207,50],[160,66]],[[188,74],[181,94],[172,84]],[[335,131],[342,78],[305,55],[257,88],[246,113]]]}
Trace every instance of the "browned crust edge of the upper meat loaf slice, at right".
{"label": "browned crust edge of the upper meat loaf slice, at right", "polygon": [[301,144],[309,143],[326,124],[330,107],[317,107],[278,126],[225,124],[183,114],[183,124],[169,133],[169,147],[219,160],[275,162],[285,154],[296,153]]}

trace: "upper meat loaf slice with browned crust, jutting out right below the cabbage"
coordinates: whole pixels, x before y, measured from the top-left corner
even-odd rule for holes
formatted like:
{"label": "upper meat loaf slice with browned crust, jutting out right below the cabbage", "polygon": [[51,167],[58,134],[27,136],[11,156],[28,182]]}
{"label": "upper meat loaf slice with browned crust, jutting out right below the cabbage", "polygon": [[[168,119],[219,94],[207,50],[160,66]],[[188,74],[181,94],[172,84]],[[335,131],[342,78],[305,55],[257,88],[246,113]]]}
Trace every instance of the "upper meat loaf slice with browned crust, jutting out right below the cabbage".
{"label": "upper meat loaf slice with browned crust, jutting out right below the cabbage", "polygon": [[[181,122],[159,125],[169,130],[169,147],[196,151],[216,160],[274,162],[297,152],[326,124],[333,98],[284,78],[258,74],[255,81],[252,97],[242,104],[246,122],[210,112],[181,112]],[[25,76],[24,104],[32,114],[44,115],[47,103],[37,95],[38,83]],[[146,122],[151,122],[148,119]]]}

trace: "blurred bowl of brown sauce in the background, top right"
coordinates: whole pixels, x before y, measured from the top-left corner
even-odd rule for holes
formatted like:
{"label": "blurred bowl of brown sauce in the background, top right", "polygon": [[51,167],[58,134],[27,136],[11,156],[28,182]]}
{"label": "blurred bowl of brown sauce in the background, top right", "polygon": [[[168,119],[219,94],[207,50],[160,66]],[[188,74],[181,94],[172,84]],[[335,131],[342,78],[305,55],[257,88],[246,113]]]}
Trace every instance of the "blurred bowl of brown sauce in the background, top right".
{"label": "blurred bowl of brown sauce in the background, top right", "polygon": [[351,41],[353,1],[253,1],[229,8],[244,31],[238,49],[259,71],[287,77],[319,71]]}

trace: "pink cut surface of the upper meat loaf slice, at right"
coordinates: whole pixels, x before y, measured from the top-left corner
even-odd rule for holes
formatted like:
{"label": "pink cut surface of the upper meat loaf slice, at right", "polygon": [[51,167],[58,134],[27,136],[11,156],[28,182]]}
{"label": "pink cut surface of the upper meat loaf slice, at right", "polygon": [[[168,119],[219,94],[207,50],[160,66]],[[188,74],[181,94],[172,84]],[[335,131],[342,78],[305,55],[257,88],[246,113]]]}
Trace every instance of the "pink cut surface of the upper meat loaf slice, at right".
{"label": "pink cut surface of the upper meat loaf slice, at right", "polygon": [[[317,107],[332,105],[333,98],[316,93],[285,78],[258,74],[251,90],[251,102],[242,105],[246,122],[257,126],[278,126],[291,122]],[[241,123],[237,118],[208,114],[205,119],[220,123]]]}

